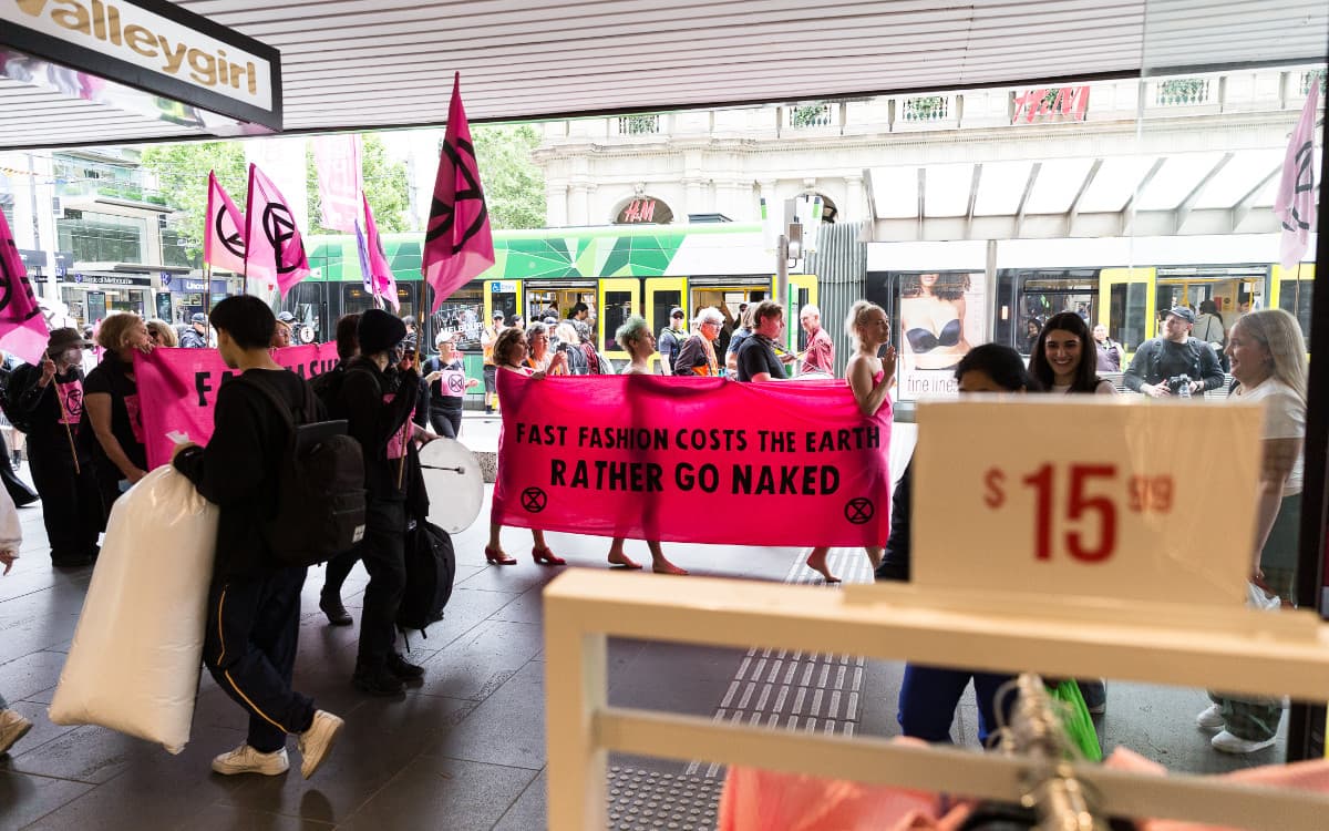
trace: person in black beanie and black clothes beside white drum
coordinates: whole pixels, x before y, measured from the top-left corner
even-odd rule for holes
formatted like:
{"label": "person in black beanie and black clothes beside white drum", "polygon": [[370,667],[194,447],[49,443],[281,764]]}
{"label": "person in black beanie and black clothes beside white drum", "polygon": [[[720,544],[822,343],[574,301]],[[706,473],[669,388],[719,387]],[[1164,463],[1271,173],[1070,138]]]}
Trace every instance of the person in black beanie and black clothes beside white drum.
{"label": "person in black beanie and black clothes beside white drum", "polygon": [[[433,437],[411,421],[419,396],[413,370],[389,370],[405,326],[385,311],[360,315],[360,356],[347,364],[336,417],[364,452],[365,531],[360,558],[369,572],[352,682],[371,695],[396,695],[424,675],[395,650],[397,606],[405,590],[407,517],[428,513],[416,441]],[[409,497],[409,499],[408,499]]]}

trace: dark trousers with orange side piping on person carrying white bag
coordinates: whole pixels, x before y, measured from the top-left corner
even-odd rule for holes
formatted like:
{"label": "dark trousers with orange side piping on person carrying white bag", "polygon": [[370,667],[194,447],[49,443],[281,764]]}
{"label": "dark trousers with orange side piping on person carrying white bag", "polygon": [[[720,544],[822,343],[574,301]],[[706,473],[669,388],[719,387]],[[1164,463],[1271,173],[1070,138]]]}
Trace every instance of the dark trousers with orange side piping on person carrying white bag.
{"label": "dark trousers with orange side piping on person carrying white bag", "polygon": [[203,663],[249,713],[247,741],[259,753],[286,747],[287,734],[314,723],[314,699],[291,689],[304,572],[217,580],[209,592]]}

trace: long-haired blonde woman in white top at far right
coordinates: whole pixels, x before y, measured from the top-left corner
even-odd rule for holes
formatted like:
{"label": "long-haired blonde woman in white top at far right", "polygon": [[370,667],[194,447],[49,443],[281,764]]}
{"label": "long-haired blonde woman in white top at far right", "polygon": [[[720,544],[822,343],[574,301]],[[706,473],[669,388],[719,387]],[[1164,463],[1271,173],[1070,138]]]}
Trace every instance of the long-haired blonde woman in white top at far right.
{"label": "long-haired blonde woman in white top at far right", "polygon": [[[1256,538],[1251,581],[1284,600],[1297,585],[1297,525],[1301,521],[1301,445],[1306,437],[1306,342],[1297,319],[1281,308],[1252,311],[1232,324],[1227,356],[1240,387],[1233,400],[1264,407],[1264,463],[1256,497]],[[1282,702],[1211,693],[1213,703],[1196,717],[1219,730],[1209,745],[1247,754],[1277,741]]]}

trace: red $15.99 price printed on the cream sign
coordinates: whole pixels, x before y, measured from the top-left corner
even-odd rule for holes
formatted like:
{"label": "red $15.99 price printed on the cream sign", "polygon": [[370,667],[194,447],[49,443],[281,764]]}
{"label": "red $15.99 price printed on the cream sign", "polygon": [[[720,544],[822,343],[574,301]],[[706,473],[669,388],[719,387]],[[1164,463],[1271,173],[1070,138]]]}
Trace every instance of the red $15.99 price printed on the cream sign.
{"label": "red $15.99 price printed on the cream sign", "polygon": [[[1034,495],[1034,558],[1051,560],[1055,542],[1079,562],[1107,562],[1116,552],[1118,524],[1124,503],[1132,513],[1167,515],[1174,484],[1168,475],[1122,479],[1115,464],[1045,464],[1033,472],[1007,476],[1002,468],[983,473],[983,504],[991,511],[1006,505],[1007,489],[1027,488]],[[1058,492],[1065,499],[1057,499]],[[1063,505],[1059,537],[1053,533],[1054,505]],[[1055,540],[1054,540],[1055,537]]]}

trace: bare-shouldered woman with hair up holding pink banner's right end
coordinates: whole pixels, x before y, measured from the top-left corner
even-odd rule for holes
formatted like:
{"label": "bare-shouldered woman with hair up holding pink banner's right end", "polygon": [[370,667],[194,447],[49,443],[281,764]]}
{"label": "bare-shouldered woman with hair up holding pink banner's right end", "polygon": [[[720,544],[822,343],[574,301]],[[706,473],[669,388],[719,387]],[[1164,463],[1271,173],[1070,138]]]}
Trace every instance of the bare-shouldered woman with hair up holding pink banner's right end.
{"label": "bare-shouldered woman with hair up holding pink banner's right end", "polygon": [[[896,347],[890,343],[890,322],[886,312],[870,300],[859,300],[849,307],[849,316],[844,322],[845,331],[853,339],[855,350],[849,356],[849,363],[844,367],[845,380],[853,392],[855,402],[859,403],[859,412],[865,419],[878,416],[889,419],[890,408],[882,414],[881,408],[890,402],[890,383],[896,376]],[[886,347],[882,352],[881,347]],[[880,356],[878,356],[880,354]],[[896,515],[892,513],[892,521]],[[908,513],[905,516],[908,519]],[[881,566],[880,545],[864,549],[868,560],[876,570]],[[819,545],[808,554],[808,568],[821,574],[828,584],[840,582],[840,578],[831,573],[827,566],[827,554],[831,549]]]}

